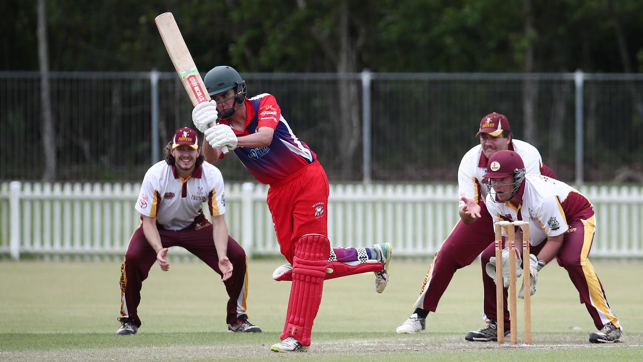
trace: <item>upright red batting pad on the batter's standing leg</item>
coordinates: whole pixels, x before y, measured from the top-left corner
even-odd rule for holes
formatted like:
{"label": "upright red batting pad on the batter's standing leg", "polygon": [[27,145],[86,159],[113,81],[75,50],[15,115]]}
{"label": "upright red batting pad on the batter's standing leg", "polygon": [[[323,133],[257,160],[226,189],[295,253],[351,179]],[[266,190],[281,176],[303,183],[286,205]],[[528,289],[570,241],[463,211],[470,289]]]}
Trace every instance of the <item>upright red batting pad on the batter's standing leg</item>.
{"label": "upright red batting pad on the batter's standing leg", "polygon": [[311,345],[312,321],[320,308],[331,242],[320,234],[306,234],[296,243],[293,285],[281,339],[293,337],[304,346]]}

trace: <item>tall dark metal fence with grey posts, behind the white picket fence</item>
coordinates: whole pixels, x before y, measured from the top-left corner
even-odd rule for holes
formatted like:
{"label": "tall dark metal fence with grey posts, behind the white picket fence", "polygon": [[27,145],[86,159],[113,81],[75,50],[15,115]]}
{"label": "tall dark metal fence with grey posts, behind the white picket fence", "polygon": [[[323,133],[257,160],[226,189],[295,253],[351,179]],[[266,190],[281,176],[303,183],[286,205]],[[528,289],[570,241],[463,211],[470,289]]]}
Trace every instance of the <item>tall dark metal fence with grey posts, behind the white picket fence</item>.
{"label": "tall dark metal fence with grey posts, behind the white picket fence", "polygon": [[[483,115],[509,117],[568,182],[643,183],[643,75],[244,73],[275,95],[331,182],[455,182]],[[0,180],[140,181],[192,106],[175,73],[50,73],[55,149],[42,146],[39,72],[0,72]],[[226,180],[249,180],[236,160]]]}

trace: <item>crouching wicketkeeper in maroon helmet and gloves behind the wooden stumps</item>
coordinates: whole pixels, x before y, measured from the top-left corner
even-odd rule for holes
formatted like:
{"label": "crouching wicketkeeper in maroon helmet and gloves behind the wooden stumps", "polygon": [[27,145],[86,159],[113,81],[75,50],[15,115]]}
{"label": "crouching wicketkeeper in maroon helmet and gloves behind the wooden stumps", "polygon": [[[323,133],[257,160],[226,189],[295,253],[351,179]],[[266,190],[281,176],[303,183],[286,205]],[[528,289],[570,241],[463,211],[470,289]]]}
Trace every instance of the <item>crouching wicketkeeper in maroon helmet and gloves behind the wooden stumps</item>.
{"label": "crouching wicketkeeper in maroon helmet and gloves behind the wooden stumps", "polygon": [[[581,303],[598,329],[598,332],[590,334],[590,342],[618,342],[621,332],[619,319],[611,311],[601,281],[587,258],[596,227],[590,201],[564,182],[543,175],[525,175],[523,161],[514,151],[499,151],[489,158],[484,177],[489,178],[486,204],[493,221],[529,222],[529,243],[533,254],[530,256],[530,275],[523,278],[532,278],[532,287],[530,291],[521,293],[534,294],[538,271],[556,258],[569,274],[580,294]],[[492,244],[482,252],[483,270],[493,255]],[[518,265],[516,271],[520,270]],[[504,321],[505,333],[509,334],[507,308],[504,316],[496,316],[494,280],[486,274],[483,280],[484,312],[489,324],[469,332],[467,339],[470,341],[496,340],[496,321]],[[504,295],[506,306],[507,292]]]}

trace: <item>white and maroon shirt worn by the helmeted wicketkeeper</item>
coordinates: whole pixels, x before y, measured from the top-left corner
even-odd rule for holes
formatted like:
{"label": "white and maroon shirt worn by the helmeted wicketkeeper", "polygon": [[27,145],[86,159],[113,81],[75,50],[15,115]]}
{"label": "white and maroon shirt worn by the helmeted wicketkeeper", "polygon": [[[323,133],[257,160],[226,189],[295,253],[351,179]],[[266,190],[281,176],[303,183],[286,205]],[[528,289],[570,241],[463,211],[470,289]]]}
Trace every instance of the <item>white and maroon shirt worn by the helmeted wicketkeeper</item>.
{"label": "white and maroon shirt worn by the helmeted wicketkeeper", "polygon": [[[574,187],[543,175],[527,175],[520,186],[518,207],[511,202],[498,203],[487,195],[487,210],[494,222],[499,220],[529,222],[529,240],[538,245],[548,236],[568,231],[569,224],[587,220],[594,214],[592,203]],[[507,235],[504,228],[503,235]]]}

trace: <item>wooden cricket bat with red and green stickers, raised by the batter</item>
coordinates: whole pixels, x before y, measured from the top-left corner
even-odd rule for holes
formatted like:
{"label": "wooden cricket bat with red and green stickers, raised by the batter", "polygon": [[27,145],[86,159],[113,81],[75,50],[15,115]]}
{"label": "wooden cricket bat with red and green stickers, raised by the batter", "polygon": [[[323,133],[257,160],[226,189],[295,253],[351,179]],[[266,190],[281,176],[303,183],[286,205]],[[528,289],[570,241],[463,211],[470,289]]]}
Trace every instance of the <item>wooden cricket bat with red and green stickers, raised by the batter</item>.
{"label": "wooden cricket bat with red and green stickers, raised by the batter", "polygon": [[[201,102],[208,102],[210,95],[206,90],[203,79],[201,79],[201,74],[199,74],[196,64],[194,64],[188,46],[183,40],[183,35],[181,35],[181,30],[179,30],[179,26],[174,20],[174,15],[171,12],[163,13],[158,15],[155,21],[176,73],[179,75],[185,91],[188,92],[190,100],[192,100],[192,106],[196,106]],[[210,124],[210,127],[214,125]],[[228,153],[228,147],[222,147],[221,151]]]}

